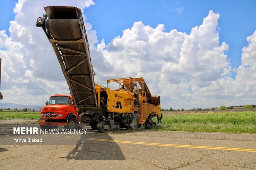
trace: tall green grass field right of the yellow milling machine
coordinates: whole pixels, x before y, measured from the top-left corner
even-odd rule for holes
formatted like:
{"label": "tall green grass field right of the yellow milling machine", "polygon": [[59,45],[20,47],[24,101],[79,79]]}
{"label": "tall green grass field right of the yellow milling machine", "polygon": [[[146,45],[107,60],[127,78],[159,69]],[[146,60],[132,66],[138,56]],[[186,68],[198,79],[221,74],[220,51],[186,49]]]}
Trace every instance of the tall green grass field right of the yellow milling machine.
{"label": "tall green grass field right of the yellow milling machine", "polygon": [[[157,122],[157,119],[154,118]],[[256,112],[165,115],[155,130],[256,133]]]}

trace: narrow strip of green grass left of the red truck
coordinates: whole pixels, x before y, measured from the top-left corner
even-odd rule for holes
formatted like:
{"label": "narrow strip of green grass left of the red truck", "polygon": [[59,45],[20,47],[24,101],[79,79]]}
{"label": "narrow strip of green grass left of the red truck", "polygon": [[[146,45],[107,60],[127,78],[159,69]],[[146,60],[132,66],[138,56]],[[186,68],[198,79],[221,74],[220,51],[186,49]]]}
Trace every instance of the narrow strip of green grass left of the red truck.
{"label": "narrow strip of green grass left of the red truck", "polygon": [[0,112],[0,120],[9,119],[40,119],[40,112]]}

